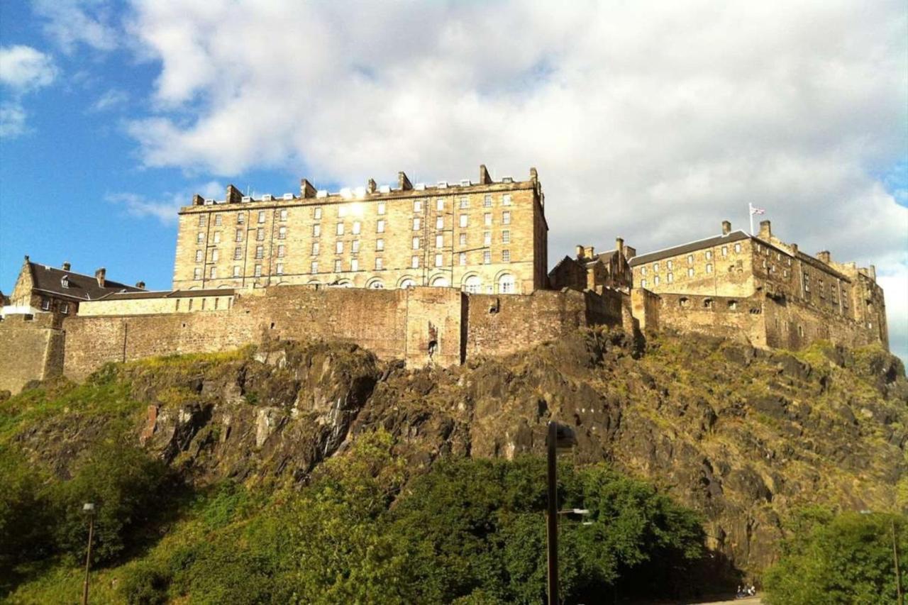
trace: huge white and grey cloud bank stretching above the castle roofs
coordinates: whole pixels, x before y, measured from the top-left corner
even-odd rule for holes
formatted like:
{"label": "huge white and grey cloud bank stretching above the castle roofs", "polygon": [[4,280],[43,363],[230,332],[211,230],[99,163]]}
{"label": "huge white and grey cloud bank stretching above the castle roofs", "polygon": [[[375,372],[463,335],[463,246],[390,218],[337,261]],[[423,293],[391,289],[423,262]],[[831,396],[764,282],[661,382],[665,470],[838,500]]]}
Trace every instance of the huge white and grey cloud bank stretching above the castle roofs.
{"label": "huge white and grey cloud bank stretching above the castle roofs", "polygon": [[908,210],[879,176],[905,154],[902,3],[133,8],[161,66],[155,111],[129,129],[147,166],[355,185],[535,165],[550,258],[741,227],[752,202],[784,239],[875,262],[903,292]]}

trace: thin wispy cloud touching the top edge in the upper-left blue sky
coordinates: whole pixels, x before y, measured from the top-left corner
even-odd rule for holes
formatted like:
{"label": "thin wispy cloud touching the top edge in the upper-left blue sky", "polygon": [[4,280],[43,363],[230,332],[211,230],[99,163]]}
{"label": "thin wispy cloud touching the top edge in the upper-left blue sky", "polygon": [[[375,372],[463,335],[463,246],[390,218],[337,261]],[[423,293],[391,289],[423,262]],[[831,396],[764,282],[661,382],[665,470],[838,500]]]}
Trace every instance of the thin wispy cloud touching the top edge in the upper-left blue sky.
{"label": "thin wispy cloud touching the top edge in the upper-left blue sky", "polygon": [[66,54],[77,45],[111,51],[120,34],[112,24],[112,3],[107,0],[33,0],[35,15],[44,18],[44,34]]}

